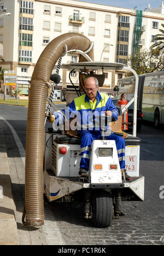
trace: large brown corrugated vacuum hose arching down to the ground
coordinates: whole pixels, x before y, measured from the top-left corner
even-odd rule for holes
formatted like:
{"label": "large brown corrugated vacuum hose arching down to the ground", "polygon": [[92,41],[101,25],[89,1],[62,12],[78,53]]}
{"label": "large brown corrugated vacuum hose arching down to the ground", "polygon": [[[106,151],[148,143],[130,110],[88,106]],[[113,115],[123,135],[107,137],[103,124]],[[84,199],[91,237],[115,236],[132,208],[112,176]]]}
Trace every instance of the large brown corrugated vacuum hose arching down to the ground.
{"label": "large brown corrugated vacuum hose arching down to the ground", "polygon": [[[31,79],[28,103],[25,165],[26,225],[39,226],[44,222],[43,155],[46,97],[52,69],[67,50],[86,51],[90,40],[79,33],[66,33],[52,40],[40,55]],[[93,49],[87,53],[93,60]],[[80,61],[87,61],[81,56]]]}

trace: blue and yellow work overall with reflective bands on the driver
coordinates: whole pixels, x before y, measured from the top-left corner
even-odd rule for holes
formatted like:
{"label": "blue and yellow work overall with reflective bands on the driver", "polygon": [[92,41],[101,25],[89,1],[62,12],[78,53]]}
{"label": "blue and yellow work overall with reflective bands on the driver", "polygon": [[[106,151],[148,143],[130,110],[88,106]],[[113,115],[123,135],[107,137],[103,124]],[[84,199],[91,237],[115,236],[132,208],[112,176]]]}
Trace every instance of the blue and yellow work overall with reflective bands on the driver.
{"label": "blue and yellow work overall with reflective bands on the driver", "polygon": [[[81,161],[80,167],[89,170],[90,161],[90,148],[92,141],[95,139],[101,139],[101,126],[95,127],[93,125],[93,118],[89,118],[90,115],[95,115],[97,117],[101,116],[102,113],[110,110],[113,117],[118,119],[118,109],[114,106],[111,98],[107,94],[102,94],[97,91],[97,96],[94,102],[92,102],[87,95],[82,95],[75,98],[71,104],[69,104],[68,109],[63,109],[63,114],[68,118],[76,115],[78,117],[78,135],[81,138]],[[69,112],[69,113],[68,113]],[[58,114],[54,113],[55,117]],[[95,124],[95,123],[94,123]],[[125,140],[121,136],[114,135],[107,136],[106,139],[114,140],[116,143],[116,148],[118,150],[120,168],[125,168]]]}

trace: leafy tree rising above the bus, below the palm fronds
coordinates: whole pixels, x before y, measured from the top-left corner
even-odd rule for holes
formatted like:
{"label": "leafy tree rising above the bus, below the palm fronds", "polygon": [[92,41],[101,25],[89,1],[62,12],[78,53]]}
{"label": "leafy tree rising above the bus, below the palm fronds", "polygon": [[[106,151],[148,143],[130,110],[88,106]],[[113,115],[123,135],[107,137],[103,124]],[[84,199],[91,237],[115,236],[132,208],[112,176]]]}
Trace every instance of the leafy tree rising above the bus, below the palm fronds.
{"label": "leafy tree rising above the bus, below the palm fronds", "polygon": [[[127,59],[127,65],[131,66],[137,74],[157,72],[164,69],[164,56],[159,55],[159,49],[150,49],[133,54]],[[132,75],[131,73],[127,74]]]}

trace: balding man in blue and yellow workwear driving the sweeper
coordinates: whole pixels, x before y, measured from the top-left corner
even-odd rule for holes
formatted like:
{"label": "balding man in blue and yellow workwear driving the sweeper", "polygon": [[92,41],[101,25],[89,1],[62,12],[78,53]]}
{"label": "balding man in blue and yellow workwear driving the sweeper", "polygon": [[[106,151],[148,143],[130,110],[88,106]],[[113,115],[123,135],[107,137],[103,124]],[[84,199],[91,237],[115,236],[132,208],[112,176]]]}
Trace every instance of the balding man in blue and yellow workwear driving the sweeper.
{"label": "balding man in blue and yellow workwear driving the sweeper", "polygon": [[[81,138],[81,161],[80,161],[80,177],[89,176],[89,161],[90,161],[90,148],[92,141],[95,139],[101,139],[101,127],[92,127],[90,124],[89,113],[101,116],[104,112],[108,117],[113,117],[118,119],[118,109],[114,106],[111,98],[107,94],[102,94],[98,92],[98,80],[95,77],[88,77],[85,79],[85,92],[86,94],[74,98],[74,100],[69,104],[69,117],[71,113],[79,113],[81,116],[81,123],[85,120],[87,122],[82,125],[82,129],[78,130],[78,135]],[[66,115],[66,110],[63,109],[62,112]],[[55,118],[58,118],[58,113],[54,112],[48,121],[54,122]],[[111,133],[106,139],[114,140],[116,143],[116,148],[118,150],[120,168],[125,170],[125,139],[121,136]],[[125,178],[131,181],[131,177],[125,172]]]}

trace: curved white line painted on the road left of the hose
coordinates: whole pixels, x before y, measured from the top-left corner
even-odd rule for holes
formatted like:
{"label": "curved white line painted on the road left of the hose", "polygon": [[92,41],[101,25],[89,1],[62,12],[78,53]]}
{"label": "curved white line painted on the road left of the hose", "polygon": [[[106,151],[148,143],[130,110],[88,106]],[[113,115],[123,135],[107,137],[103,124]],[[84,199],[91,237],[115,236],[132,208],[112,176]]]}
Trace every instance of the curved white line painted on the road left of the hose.
{"label": "curved white line painted on the road left of the hose", "polygon": [[16,131],[14,130],[13,126],[10,125],[10,123],[9,123],[7,120],[5,120],[3,117],[0,117],[0,119],[2,119],[2,120],[4,121],[4,123],[8,125],[10,131],[13,133],[13,137],[14,137],[14,139],[15,139],[15,143],[16,143],[16,145],[17,145],[17,148],[19,149],[19,153],[20,153],[22,162],[23,162],[23,164],[24,164],[24,166],[25,166],[25,155],[26,155],[26,151],[25,151],[25,149],[24,149],[24,146],[23,146],[22,143],[21,143],[21,140],[20,140],[19,136],[17,135],[17,133],[16,133]]}

